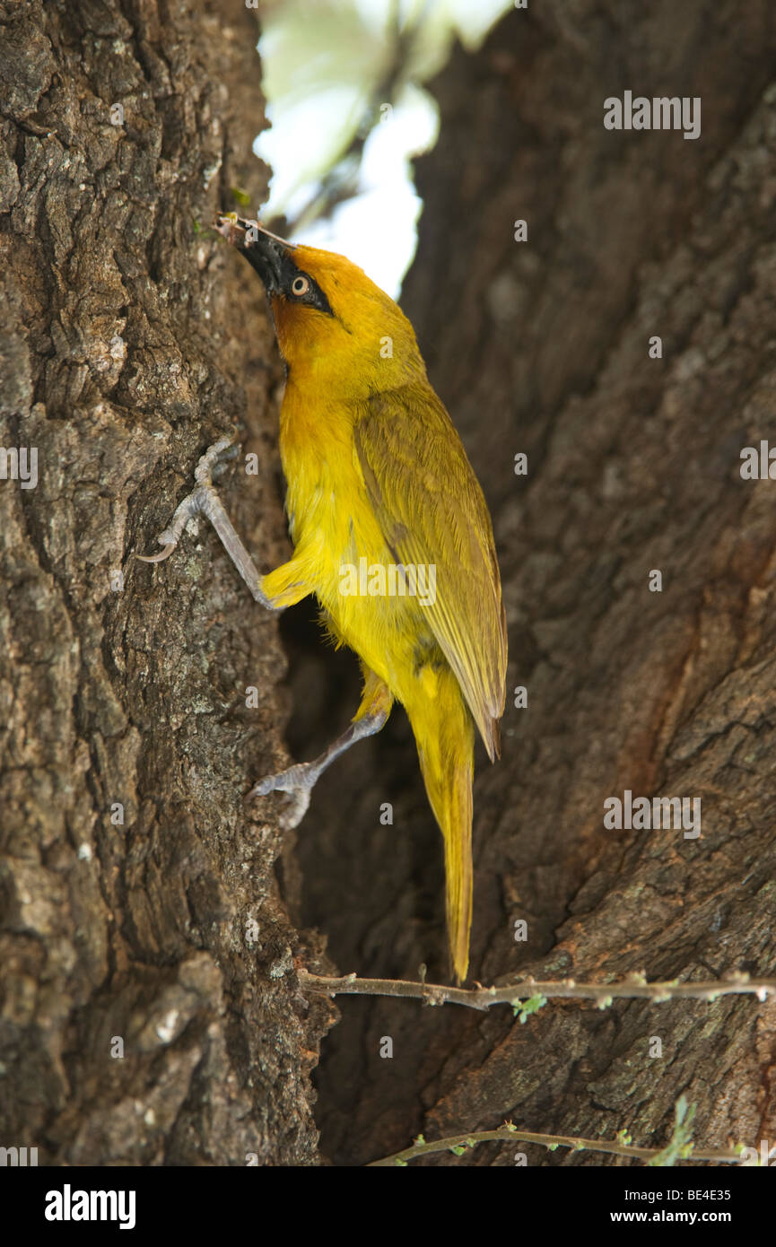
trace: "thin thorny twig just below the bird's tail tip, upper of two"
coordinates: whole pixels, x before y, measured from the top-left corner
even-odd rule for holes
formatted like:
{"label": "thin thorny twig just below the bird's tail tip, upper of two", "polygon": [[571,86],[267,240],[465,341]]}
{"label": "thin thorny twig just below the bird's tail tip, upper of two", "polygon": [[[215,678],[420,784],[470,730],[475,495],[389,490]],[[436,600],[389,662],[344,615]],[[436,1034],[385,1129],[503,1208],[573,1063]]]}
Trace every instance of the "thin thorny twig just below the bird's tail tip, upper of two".
{"label": "thin thorny twig just below the bird's tail tip, upper of two", "polygon": [[574,979],[536,981],[528,978],[505,988],[450,988],[437,983],[413,983],[404,979],[359,979],[356,974],[326,978],[299,970],[299,983],[309,991],[328,996],[409,996],[427,1005],[467,1005],[469,1009],[490,1009],[492,1005],[517,1005],[528,998],[545,996],[565,1000],[595,1000],[606,1009],[615,999],[651,1000],[717,1000],[720,996],[755,995],[760,1001],[776,996],[775,979],[751,979],[749,974],[730,974],[725,979],[702,983],[647,983],[644,974],[630,974],[621,983],[575,983]]}

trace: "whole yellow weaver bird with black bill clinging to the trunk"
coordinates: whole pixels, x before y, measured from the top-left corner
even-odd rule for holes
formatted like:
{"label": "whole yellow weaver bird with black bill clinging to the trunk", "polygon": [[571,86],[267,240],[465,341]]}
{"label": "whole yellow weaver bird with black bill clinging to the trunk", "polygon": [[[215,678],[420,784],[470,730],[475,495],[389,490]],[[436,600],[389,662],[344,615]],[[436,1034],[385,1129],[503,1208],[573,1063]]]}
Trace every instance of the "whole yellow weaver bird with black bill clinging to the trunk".
{"label": "whole yellow weaver bird with black bill clinging to the trunk", "polygon": [[[404,706],[444,838],[448,938],[463,981],[474,727],[494,761],[505,700],[507,624],[488,508],[393,299],[343,256],[294,246],[236,214],[217,228],[262,278],[288,369],[279,450],[294,551],[266,576],[253,566],[211,483],[225,439],[200,461],[197,489],[151,561],[166,557],[186,521],[203,513],[257,601],[282,610],[314,594],[332,636],[361,660],[364,691],[348,731],[314,762],[267,776],[252,794],[288,792],[303,813],[326,767],[378,732],[394,700]],[[348,567],[368,569],[378,590],[392,584],[379,570],[398,569],[398,589],[364,592],[359,575],[362,591],[346,591]],[[424,595],[407,591],[413,567]]]}

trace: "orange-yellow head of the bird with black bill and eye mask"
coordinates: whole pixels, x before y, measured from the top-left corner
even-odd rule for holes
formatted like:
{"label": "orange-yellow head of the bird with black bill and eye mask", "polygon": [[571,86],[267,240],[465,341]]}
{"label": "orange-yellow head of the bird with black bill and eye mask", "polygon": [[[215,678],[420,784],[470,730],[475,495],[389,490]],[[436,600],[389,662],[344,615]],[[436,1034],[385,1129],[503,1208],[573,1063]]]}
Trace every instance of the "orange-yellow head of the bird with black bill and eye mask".
{"label": "orange-yellow head of the bird with black bill and eye mask", "polygon": [[264,283],[294,380],[303,377],[352,400],[425,378],[412,324],[357,264],[235,214],[220,217],[217,229]]}

